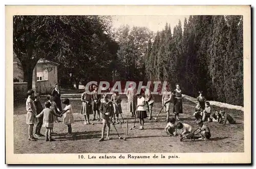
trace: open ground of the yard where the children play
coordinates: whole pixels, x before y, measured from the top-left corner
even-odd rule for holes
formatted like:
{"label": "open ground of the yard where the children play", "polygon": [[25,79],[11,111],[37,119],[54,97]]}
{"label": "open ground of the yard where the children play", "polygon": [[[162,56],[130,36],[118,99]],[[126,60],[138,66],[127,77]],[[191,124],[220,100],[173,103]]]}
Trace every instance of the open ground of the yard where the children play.
{"label": "open ground of the yard where the children play", "polygon": [[[42,99],[42,103],[45,100]],[[111,126],[112,140],[99,142],[102,125],[95,122],[95,125],[84,125],[83,116],[79,114],[80,100],[71,100],[74,107],[75,123],[72,125],[74,136],[72,138],[63,137],[67,134],[67,126],[62,123],[54,124],[54,135],[57,141],[45,142],[45,137],[39,137],[38,141],[28,140],[28,125],[26,125],[25,102],[14,106],[14,153],[200,153],[200,152],[244,152],[244,112],[223,109],[238,122],[236,125],[223,126],[211,122],[206,124],[211,130],[211,139],[208,141],[190,141],[189,139],[180,142],[178,137],[168,136],[164,128],[166,126],[165,114],[162,112],[158,122],[155,119],[145,120],[144,129],[139,130],[138,119],[136,127],[129,130],[126,135],[126,124],[115,125],[121,137],[127,140],[119,140],[116,131]],[[127,112],[127,101],[123,100],[123,117],[129,120],[129,128],[133,127],[134,118]],[[187,123],[197,128],[194,117],[194,103],[185,101],[183,103],[183,114],[180,119],[182,123]],[[173,108],[173,105],[171,105]],[[156,116],[161,109],[161,102],[157,100],[153,107],[153,116]],[[219,107],[212,107],[212,110],[220,110]],[[173,114],[172,114],[173,115]],[[91,115],[92,118],[92,115]],[[60,120],[62,120],[60,118]],[[45,128],[41,133],[45,134]]]}

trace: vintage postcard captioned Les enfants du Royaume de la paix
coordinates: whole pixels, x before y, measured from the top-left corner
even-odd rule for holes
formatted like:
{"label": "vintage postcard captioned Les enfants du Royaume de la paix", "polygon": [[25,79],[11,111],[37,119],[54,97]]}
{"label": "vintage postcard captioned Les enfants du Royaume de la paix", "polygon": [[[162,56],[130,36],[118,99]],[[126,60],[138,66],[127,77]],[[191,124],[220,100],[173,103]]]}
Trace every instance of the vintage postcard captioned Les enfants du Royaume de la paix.
{"label": "vintage postcard captioned Les enfants du Royaume de la paix", "polygon": [[251,163],[250,17],[6,6],[6,163]]}

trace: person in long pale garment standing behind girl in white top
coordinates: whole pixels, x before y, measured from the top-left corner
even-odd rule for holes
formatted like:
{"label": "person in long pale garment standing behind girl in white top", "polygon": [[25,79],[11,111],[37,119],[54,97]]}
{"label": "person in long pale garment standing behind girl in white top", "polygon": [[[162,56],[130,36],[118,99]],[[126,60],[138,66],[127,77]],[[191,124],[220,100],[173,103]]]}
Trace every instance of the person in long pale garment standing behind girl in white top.
{"label": "person in long pale garment standing behind girl in white top", "polygon": [[[130,83],[129,84],[129,88],[133,87],[133,84]],[[132,113],[132,117],[134,117],[136,114],[135,114],[135,111],[136,111],[136,93],[137,93],[137,90],[136,89],[128,89],[127,90],[127,93],[126,93],[126,96],[128,98],[128,111]]]}

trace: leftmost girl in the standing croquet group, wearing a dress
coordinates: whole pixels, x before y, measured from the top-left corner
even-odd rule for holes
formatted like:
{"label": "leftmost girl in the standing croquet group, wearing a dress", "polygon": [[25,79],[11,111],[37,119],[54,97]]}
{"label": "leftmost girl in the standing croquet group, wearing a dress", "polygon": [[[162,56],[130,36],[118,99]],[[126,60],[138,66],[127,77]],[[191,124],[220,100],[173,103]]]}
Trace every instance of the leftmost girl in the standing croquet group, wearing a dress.
{"label": "leftmost girl in the standing croquet group, wearing a dress", "polygon": [[92,96],[84,91],[81,95],[82,107],[80,114],[84,115],[84,124],[90,125],[90,114],[93,114],[92,110]]}

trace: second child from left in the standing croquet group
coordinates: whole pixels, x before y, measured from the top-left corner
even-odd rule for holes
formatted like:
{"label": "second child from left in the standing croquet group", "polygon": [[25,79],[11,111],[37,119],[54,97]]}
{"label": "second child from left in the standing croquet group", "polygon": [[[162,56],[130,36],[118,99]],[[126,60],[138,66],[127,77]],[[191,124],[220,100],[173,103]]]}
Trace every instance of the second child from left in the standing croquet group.
{"label": "second child from left in the standing croquet group", "polygon": [[93,100],[93,121],[96,120],[95,116],[97,113],[97,120],[98,122],[100,121],[100,112],[99,112],[99,107],[100,107],[100,94],[98,94],[98,86],[94,86],[94,90],[92,93],[92,100]]}

